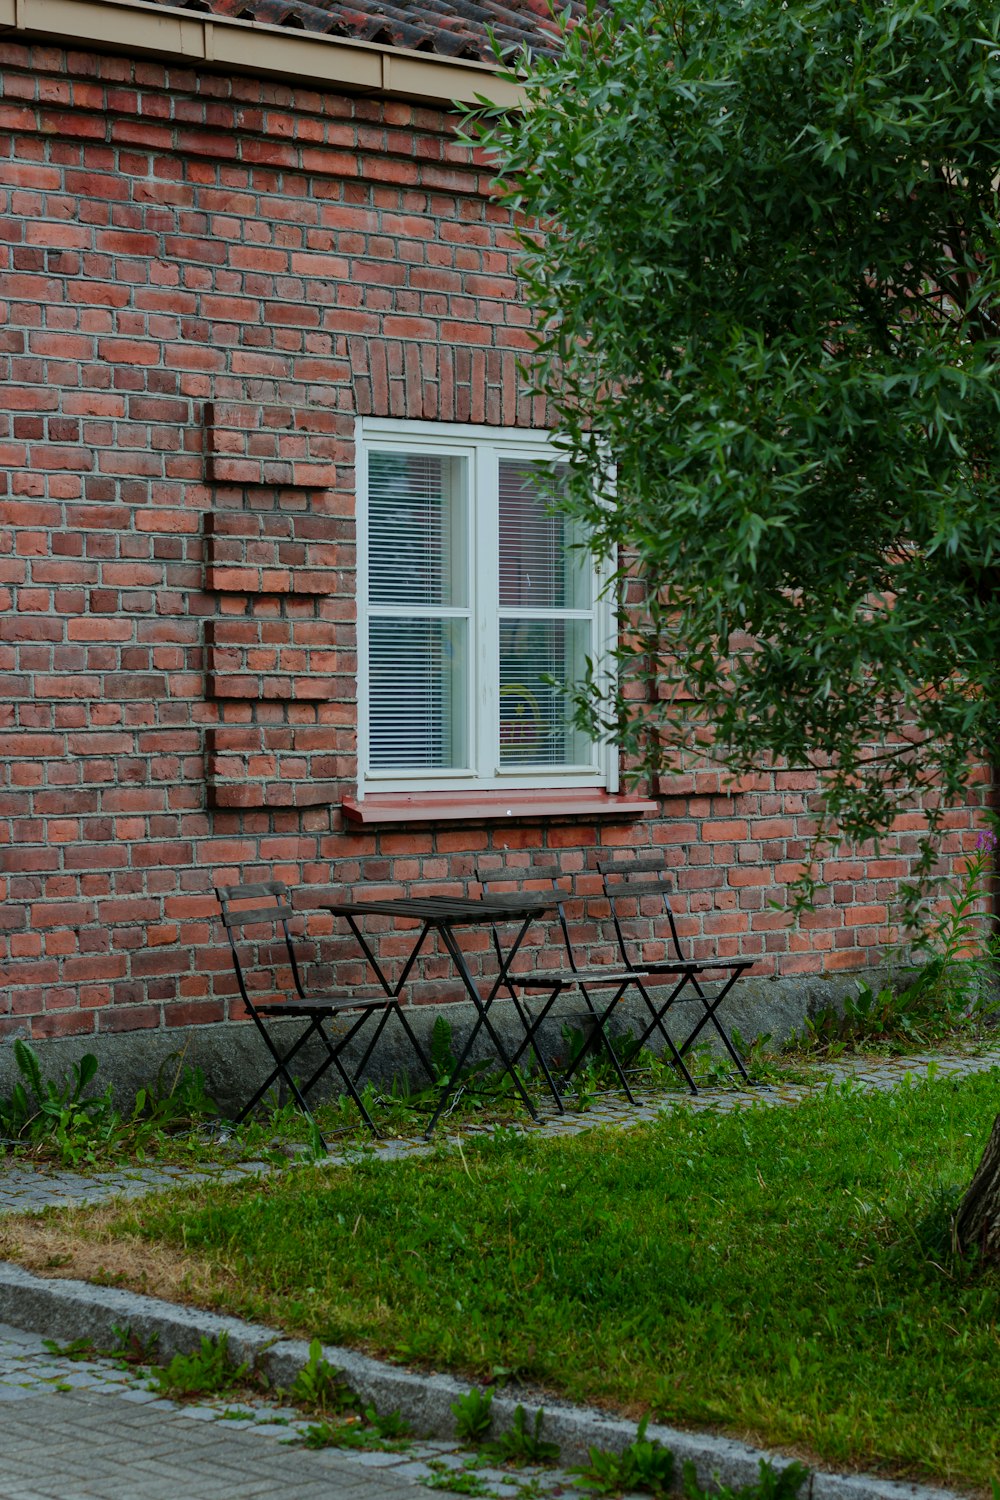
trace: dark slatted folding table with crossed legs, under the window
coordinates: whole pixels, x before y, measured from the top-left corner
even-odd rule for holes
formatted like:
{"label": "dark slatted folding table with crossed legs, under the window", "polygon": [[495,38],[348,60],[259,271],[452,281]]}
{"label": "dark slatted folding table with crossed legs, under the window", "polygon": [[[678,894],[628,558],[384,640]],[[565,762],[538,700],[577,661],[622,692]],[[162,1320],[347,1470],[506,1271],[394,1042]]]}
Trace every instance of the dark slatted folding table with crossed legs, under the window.
{"label": "dark slatted folding table with crossed legs, under the window", "polygon": [[[525,1047],[528,1046],[531,1047],[537,1060],[541,1065],[541,1070],[552,1090],[553,1100],[556,1101],[559,1110],[562,1108],[556,1086],[552,1080],[546,1060],[541,1056],[538,1046],[535,1044],[537,1022],[532,1023],[531,1017],[523,1011],[522,1002],[514,992],[514,976],[510,972],[511,964],[517,957],[517,952],[520,951],[520,946],[525,938],[528,936],[528,930],[532,926],[532,922],[535,922],[540,916],[546,916],[549,912],[555,910],[556,896],[553,892],[511,891],[510,896],[507,894],[490,896],[489,900],[477,900],[474,897],[465,897],[465,896],[399,896],[399,897],[390,897],[387,900],[363,898],[354,902],[324,902],[322,906],[327,910],[333,912],[334,916],[343,916],[346,920],[351,932],[354,933],[358,942],[358,946],[361,948],[361,952],[370,963],[372,972],[375,974],[378,982],[381,984],[385,994],[394,1000],[399,1000],[403,986],[406,984],[412,972],[414,963],[417,962],[417,957],[420,954],[420,950],[423,948],[429,934],[436,933],[441,938],[441,944],[445,952],[448,954],[448,957],[454,964],[456,974],[462,981],[466,994],[469,996],[472,1005],[475,1006],[477,1012],[475,1024],[472,1026],[472,1030],[469,1032],[465,1041],[465,1046],[462,1048],[462,1056],[457,1059],[454,1068],[451,1070],[451,1076],[441,1089],[441,1096],[435,1106],[433,1114],[430,1116],[430,1124],[424,1131],[427,1137],[432,1134],[435,1125],[441,1119],[441,1114],[448,1100],[451,1098],[459,1084],[459,1080],[462,1077],[462,1070],[465,1068],[465,1064],[472,1052],[472,1047],[475,1044],[480,1030],[486,1030],[487,1036],[493,1044],[501,1068],[504,1070],[505,1074],[510,1076],[511,1083],[517,1089],[517,1094],[520,1095],[525,1108],[528,1110],[528,1113],[534,1120],[538,1119],[538,1112],[535,1110],[535,1106],[531,1096],[528,1095],[528,1090],[525,1089],[516,1070],[516,1059],[522,1056]],[[402,966],[399,978],[394,982],[387,976],[384,966],[379,963],[375,952],[372,951],[372,944],[369,940],[369,936],[364,933],[361,927],[361,921],[366,916],[388,916],[393,921],[409,921],[420,924],[420,928],[415,934],[414,946],[409,951],[409,956],[406,957]],[[498,922],[514,922],[517,924],[517,932],[510,950],[505,954],[498,948],[498,974],[489,988],[489,993],[483,996],[469,969],[468,960],[462,952],[462,946],[457,939],[457,928],[483,927],[483,928],[490,928],[495,933]],[[504,1042],[501,1041],[496,1028],[490,1020],[490,1006],[493,1005],[493,1000],[496,999],[499,992],[504,988],[514,1000],[519,1018],[525,1026],[525,1042],[517,1050],[514,1059],[511,1059],[510,1054],[507,1053],[507,1048],[504,1047]]]}

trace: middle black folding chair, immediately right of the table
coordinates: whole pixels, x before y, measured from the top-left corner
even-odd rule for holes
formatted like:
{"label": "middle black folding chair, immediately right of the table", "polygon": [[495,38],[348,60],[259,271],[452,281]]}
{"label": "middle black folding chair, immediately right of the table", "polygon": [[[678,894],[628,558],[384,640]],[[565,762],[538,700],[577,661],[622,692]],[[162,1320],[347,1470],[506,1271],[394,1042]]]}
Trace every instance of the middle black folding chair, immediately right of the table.
{"label": "middle black folding chair, immediately right of the table", "polygon": [[[493,874],[487,876],[486,872],[480,870],[477,872],[477,878],[480,880],[480,885],[483,886],[483,900],[489,904],[492,898],[492,894],[489,891],[489,884],[490,882],[499,884],[502,880],[508,880],[511,879],[511,874],[510,872],[504,870],[498,872],[495,876]],[[559,886],[559,880],[564,878],[564,873],[558,867],[552,868],[535,867],[526,870],[525,878],[532,880],[544,879],[550,882],[552,891],[556,892],[556,915],[559,918],[562,945],[565,948],[568,963],[567,968],[564,969],[535,969],[529,974],[517,972],[510,975],[508,990],[511,998],[514,999],[514,1004],[517,1005],[517,1014],[522,1020],[522,1024],[525,1026],[525,1041],[514,1053],[511,1062],[516,1064],[528,1050],[528,1047],[531,1047],[535,1058],[541,1064],[552,1096],[555,1098],[559,1110],[562,1110],[559,1088],[565,1088],[573,1074],[579,1071],[579,1068],[583,1065],[583,1062],[592,1052],[603,1050],[618,1077],[618,1083],[622,1092],[625,1094],[625,1098],[628,1100],[630,1104],[634,1104],[636,1098],[628,1086],[625,1070],[618,1056],[618,1052],[612,1044],[612,1038],[609,1036],[609,1024],[612,1016],[615,1014],[616,1006],[625,996],[627,990],[630,990],[634,986],[640,993],[645,993],[643,980],[646,978],[646,975],[637,970],[636,966],[631,963],[580,966],[577,963],[576,952],[573,951],[570,924],[565,915],[564,903],[567,892],[564,892]],[[543,896],[540,892],[540,900],[541,898]],[[544,898],[549,904],[552,903],[550,892],[544,892]],[[502,894],[498,894],[496,900],[502,902]],[[499,938],[496,934],[496,924],[493,924],[493,945],[496,946],[496,951],[499,954],[501,948],[499,948]],[[540,990],[543,993],[547,992],[546,998],[543,999],[541,1010],[535,1017],[528,1017],[526,1012],[522,1010],[520,998],[516,993],[517,988]],[[603,998],[600,996],[600,992],[604,990],[613,992],[610,1000],[607,999],[607,996]],[[552,1011],[555,1002],[559,999],[561,994],[567,992],[579,993],[580,998],[583,999],[583,1004],[586,1005],[586,1012],[583,1016],[586,1034],[583,1038],[583,1046],[580,1047],[577,1054],[571,1059],[570,1065],[562,1071],[559,1077],[559,1084],[556,1086],[549,1071],[549,1066],[546,1065],[543,1053],[535,1042],[535,1036],[538,1028],[549,1017],[549,1012]],[[646,1000],[648,1004],[652,1005],[648,996]],[[697,1094],[697,1088],[694,1086],[694,1080],[691,1078],[691,1074],[688,1072],[682,1056],[678,1053],[676,1047],[673,1047],[670,1038],[667,1036],[666,1040],[667,1044],[670,1046],[670,1050],[673,1052],[673,1060],[679,1068],[679,1071],[682,1072],[688,1088],[691,1089],[693,1094]]]}

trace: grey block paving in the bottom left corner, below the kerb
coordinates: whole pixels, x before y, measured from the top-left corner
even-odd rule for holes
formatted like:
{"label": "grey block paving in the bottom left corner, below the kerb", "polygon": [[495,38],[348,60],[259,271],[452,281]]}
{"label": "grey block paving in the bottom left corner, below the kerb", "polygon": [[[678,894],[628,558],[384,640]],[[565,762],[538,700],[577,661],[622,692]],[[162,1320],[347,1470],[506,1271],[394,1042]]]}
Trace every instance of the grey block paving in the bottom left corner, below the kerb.
{"label": "grey block paving in the bottom left corner, below the kerb", "polygon": [[559,1470],[481,1466],[450,1443],[307,1449],[316,1422],[267,1401],[178,1404],[112,1359],[70,1359],[0,1324],[3,1500],[415,1500],[463,1484],[490,1500],[583,1500]]}

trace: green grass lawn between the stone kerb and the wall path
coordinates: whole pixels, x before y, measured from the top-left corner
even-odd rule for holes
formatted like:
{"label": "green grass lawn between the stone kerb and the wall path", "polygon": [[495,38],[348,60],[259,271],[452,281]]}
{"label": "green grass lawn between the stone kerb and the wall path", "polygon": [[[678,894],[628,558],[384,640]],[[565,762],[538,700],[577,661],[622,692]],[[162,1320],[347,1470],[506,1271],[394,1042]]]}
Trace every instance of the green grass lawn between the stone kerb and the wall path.
{"label": "green grass lawn between the stone kerb and the wall path", "polygon": [[304,1167],[121,1212],[231,1311],[943,1482],[1000,1474],[1000,1278],[948,1212],[1000,1072]]}

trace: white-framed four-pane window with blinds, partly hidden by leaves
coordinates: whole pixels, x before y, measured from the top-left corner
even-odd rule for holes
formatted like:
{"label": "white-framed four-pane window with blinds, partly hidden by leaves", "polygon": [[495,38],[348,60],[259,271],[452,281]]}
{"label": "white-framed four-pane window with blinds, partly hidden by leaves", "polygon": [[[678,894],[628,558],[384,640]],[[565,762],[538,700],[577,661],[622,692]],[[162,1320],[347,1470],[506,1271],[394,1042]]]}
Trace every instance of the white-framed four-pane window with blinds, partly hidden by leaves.
{"label": "white-framed four-pane window with blinds, partly hidden by leaves", "polygon": [[[358,794],[601,786],[555,682],[607,658],[609,572],[549,506],[546,434],[360,418]],[[558,468],[555,471],[558,474]]]}

